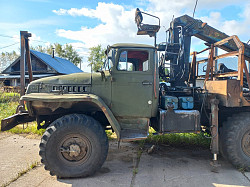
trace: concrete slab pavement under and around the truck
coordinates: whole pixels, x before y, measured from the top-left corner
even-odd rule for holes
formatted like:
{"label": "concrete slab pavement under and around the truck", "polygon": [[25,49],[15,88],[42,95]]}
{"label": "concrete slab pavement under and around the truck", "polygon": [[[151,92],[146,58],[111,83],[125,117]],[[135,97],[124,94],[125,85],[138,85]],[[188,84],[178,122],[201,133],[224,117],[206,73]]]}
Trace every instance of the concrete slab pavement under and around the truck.
{"label": "concrete slab pavement under and around the truck", "polygon": [[[0,185],[9,186],[250,186],[250,173],[241,173],[220,160],[219,173],[210,171],[209,150],[157,146],[152,154],[138,144],[110,142],[102,169],[94,176],[57,179],[43,165],[30,169],[40,160],[38,138],[0,133]],[[149,148],[151,145],[146,145]],[[141,156],[138,152],[143,151]],[[18,177],[23,171],[26,174]],[[14,181],[14,179],[16,179]]]}

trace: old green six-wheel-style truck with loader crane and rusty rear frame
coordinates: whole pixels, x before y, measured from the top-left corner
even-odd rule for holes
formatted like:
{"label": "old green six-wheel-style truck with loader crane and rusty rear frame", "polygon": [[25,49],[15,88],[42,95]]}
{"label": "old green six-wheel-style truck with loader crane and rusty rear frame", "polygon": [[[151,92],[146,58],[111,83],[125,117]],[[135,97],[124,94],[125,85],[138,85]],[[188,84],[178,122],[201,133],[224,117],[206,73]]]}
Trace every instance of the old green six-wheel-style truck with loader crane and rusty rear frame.
{"label": "old green six-wheel-style truck with loader crane and rusty rear frame", "polygon": [[[160,25],[143,24],[142,13],[136,10],[138,35],[156,38]],[[207,42],[208,59],[197,61],[200,52],[193,52],[189,62],[192,36]],[[214,56],[215,47],[227,55]],[[38,128],[46,128],[39,154],[45,169],[58,177],[89,176],[101,168],[109,147],[105,129],[112,129],[118,141],[134,141],[147,138],[150,127],[160,134],[205,128],[215,164],[220,151],[249,170],[249,49],[237,36],[184,15],[171,22],[164,43],[108,46],[98,72],[31,82],[21,97],[27,111],[19,107],[2,120],[1,130],[35,120]],[[230,55],[238,57],[238,70],[216,70],[215,60]],[[203,62],[206,72],[199,75]]]}

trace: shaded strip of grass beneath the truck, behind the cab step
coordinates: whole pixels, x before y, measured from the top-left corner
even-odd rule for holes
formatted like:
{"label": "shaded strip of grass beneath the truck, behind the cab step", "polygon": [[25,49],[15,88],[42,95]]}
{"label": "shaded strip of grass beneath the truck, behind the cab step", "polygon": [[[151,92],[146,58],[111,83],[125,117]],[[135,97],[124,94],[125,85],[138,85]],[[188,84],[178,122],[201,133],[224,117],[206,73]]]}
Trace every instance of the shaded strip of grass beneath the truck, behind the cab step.
{"label": "shaded strip of grass beneath the truck, behind the cab step", "polygon": [[201,133],[173,133],[164,135],[153,135],[153,133],[154,130],[151,129],[148,138],[145,140],[146,143],[167,144],[179,147],[199,146],[209,148],[211,141]]}

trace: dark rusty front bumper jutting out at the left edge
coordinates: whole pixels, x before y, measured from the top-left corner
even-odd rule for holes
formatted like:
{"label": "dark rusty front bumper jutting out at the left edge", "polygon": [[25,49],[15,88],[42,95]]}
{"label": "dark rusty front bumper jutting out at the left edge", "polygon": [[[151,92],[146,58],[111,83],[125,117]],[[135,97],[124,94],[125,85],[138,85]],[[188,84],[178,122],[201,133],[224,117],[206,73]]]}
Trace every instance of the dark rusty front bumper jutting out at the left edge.
{"label": "dark rusty front bumper jutting out at the left edge", "polygon": [[29,116],[28,113],[17,113],[1,121],[1,131],[7,131],[18,124],[35,121],[35,117]]}

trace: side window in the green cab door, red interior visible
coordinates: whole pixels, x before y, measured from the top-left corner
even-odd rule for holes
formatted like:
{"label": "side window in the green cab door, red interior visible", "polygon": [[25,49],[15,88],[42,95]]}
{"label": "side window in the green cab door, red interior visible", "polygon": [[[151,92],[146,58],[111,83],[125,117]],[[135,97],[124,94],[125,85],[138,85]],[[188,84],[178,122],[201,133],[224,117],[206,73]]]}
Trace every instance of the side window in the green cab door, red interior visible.
{"label": "side window in the green cab door, red interior visible", "polygon": [[124,50],[120,53],[117,70],[148,71],[148,51]]}

